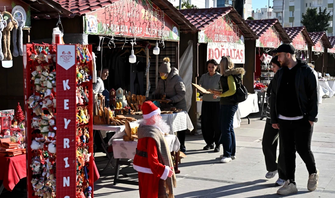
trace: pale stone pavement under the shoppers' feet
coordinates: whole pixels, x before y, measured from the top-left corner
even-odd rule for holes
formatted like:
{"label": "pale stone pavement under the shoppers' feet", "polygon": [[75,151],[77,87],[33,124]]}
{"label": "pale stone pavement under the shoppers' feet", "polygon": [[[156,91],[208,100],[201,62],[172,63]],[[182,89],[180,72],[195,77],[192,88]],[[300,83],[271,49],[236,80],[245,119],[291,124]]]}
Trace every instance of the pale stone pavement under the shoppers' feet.
{"label": "pale stone pavement under the shoppers' feet", "polygon": [[[256,116],[257,117],[257,116]],[[186,197],[229,197],[229,198],[335,198],[335,98],[327,98],[319,106],[319,122],[315,124],[312,138],[312,151],[317,168],[320,170],[319,186],[314,192],[307,190],[308,172],[305,163],[297,154],[296,183],[299,192],[279,196],[274,186],[277,176],[266,179],[267,173],[262,151],[262,136],[265,120],[251,118],[248,125],[243,119],[241,128],[235,130],[237,159],[229,163],[220,163],[219,153],[204,151],[206,145],[202,135],[186,137],[187,157],[179,165],[177,174],[176,198]],[[98,168],[103,169],[107,161],[103,153],[96,153],[95,160],[100,161]],[[99,157],[100,156],[100,157]],[[123,170],[133,173],[132,167]],[[136,175],[130,180],[136,180]],[[113,186],[114,169],[103,173],[94,183],[94,197],[139,197],[138,186],[117,184]]]}

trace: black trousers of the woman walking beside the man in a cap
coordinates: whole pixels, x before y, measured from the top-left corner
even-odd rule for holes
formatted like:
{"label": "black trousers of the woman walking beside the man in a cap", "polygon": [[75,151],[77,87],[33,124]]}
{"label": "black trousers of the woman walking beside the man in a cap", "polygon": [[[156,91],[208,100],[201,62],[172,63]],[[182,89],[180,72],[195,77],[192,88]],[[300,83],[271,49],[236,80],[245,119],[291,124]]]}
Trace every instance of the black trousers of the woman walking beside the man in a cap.
{"label": "black trousers of the woman walking beside the man in a cap", "polygon": [[[277,161],[277,145],[279,141],[279,155]],[[279,140],[279,130],[274,129],[272,124],[265,123],[262,148],[265,157],[266,170],[273,172],[278,170],[279,178],[287,180],[285,175],[285,158],[284,158],[284,147],[281,140]]]}

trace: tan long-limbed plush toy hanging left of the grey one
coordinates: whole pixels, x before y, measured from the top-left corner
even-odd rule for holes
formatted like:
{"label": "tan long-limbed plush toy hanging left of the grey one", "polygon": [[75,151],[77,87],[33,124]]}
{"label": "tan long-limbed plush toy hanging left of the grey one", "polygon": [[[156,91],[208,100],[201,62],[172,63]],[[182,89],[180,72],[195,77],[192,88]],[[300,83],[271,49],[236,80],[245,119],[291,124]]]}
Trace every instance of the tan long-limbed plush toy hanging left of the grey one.
{"label": "tan long-limbed plush toy hanging left of the grey one", "polygon": [[[14,28],[14,18],[11,13],[7,11],[3,11],[2,15],[6,14],[9,18],[7,19],[7,27],[4,28],[3,30],[3,56],[6,58],[8,61],[12,60],[12,54],[10,52],[10,31]],[[17,24],[16,24],[17,25]]]}

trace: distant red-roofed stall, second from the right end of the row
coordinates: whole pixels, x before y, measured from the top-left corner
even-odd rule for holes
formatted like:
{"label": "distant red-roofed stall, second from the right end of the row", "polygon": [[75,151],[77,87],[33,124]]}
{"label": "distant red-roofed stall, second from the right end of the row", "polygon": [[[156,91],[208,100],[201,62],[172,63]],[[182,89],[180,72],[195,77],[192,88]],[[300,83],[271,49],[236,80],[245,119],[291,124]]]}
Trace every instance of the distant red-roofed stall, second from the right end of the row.
{"label": "distant red-roofed stall, second from the right end of the row", "polygon": [[[327,49],[332,48],[326,32],[309,32],[314,43],[311,50],[311,63],[314,64],[314,70],[320,72],[322,76],[327,73]],[[326,54],[326,56],[325,56]]]}

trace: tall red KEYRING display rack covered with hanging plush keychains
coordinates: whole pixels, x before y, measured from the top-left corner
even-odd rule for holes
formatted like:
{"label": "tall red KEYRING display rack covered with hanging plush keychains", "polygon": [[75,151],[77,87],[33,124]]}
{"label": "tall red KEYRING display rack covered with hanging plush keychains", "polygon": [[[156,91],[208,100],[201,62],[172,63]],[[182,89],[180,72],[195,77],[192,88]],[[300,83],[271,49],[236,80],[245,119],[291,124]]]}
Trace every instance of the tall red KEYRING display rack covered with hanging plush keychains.
{"label": "tall red KEYRING display rack covered with hanging plush keychains", "polygon": [[28,198],[93,197],[91,52],[23,46]]}

